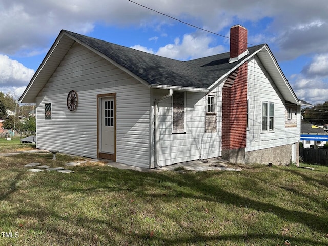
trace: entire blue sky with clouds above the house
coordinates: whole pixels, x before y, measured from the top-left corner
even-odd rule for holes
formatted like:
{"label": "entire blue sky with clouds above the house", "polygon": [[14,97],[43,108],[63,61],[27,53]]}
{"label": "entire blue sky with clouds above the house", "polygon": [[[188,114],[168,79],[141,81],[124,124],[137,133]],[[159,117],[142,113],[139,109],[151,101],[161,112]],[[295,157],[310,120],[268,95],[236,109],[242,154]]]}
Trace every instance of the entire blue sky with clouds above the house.
{"label": "entire blue sky with clouds above the house", "polygon": [[[223,36],[246,27],[248,43],[269,45],[299,99],[328,101],[326,0],[135,2]],[[0,18],[0,91],[16,97],[61,29],[179,60],[229,51],[228,38],[129,0],[0,0]]]}

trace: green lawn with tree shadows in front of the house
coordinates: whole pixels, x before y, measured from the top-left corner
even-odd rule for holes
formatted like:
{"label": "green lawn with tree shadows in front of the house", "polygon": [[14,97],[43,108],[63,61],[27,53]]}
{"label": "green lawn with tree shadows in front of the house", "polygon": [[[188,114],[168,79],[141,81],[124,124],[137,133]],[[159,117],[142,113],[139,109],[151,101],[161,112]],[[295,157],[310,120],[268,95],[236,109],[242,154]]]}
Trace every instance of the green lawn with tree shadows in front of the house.
{"label": "green lawn with tree shadows in front of the house", "polygon": [[0,157],[0,245],[328,245],[328,167],[141,173],[88,164],[70,174],[23,167],[83,159],[51,157]]}

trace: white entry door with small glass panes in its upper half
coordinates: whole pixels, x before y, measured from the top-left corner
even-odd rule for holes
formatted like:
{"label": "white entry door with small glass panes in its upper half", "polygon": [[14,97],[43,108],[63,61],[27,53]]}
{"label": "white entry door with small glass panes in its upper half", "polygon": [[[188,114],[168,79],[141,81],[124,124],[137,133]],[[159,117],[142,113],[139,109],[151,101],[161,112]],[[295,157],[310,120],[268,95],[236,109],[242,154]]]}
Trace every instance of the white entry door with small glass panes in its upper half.
{"label": "white entry door with small glass panes in its upper half", "polygon": [[101,98],[100,152],[115,153],[115,101],[114,97]]}

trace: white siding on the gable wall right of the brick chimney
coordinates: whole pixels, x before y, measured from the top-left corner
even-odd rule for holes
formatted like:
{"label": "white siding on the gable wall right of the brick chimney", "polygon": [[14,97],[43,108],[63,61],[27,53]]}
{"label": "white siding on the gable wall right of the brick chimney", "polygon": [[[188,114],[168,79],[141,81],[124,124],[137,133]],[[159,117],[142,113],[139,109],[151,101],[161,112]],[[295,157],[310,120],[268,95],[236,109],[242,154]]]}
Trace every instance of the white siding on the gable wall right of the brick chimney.
{"label": "white siding on the gable wall right of the brick chimney", "polygon": [[[285,127],[285,101],[270,75],[256,57],[248,63],[248,131],[246,151],[293,144],[299,140],[299,127]],[[262,103],[268,103],[267,128],[262,130]],[[270,103],[272,103],[270,111]],[[299,117],[299,116],[297,116]],[[272,124],[270,124],[270,119]],[[299,119],[298,119],[299,120]],[[270,127],[274,131],[269,130]]]}

